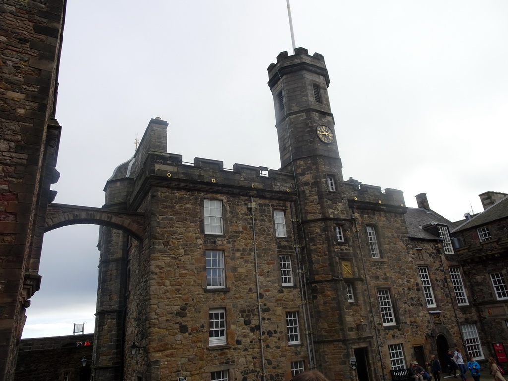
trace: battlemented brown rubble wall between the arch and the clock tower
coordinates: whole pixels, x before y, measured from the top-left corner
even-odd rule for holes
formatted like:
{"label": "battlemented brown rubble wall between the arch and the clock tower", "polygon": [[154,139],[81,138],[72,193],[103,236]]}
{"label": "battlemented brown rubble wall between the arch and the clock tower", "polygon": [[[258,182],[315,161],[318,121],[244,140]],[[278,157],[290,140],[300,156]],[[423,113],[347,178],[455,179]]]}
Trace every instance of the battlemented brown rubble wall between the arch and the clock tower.
{"label": "battlemented brown rubble wall between the arch and the clock tower", "polygon": [[[258,380],[262,347],[267,372],[275,379],[291,377],[292,361],[308,366],[291,177],[277,171],[260,176],[259,168],[241,165],[224,171],[220,162],[203,159],[185,166],[169,154],[152,154],[144,168],[153,171],[152,186],[144,197],[133,194],[130,205],[149,216],[149,244],[132,241],[129,248],[125,326],[125,342],[136,341],[140,349],[134,356],[124,352],[125,377],[209,379],[210,372],[229,369],[230,379]],[[250,197],[256,204],[256,245]],[[205,199],[223,202],[223,235],[204,234]],[[287,237],[275,237],[275,209],[285,212]],[[224,250],[226,289],[206,288],[207,249]],[[292,258],[293,287],[281,285],[281,254]],[[227,345],[217,347],[208,344],[208,312],[215,307],[226,308],[227,322]],[[301,344],[287,343],[288,310],[299,313]]]}

